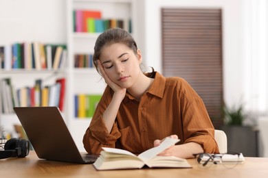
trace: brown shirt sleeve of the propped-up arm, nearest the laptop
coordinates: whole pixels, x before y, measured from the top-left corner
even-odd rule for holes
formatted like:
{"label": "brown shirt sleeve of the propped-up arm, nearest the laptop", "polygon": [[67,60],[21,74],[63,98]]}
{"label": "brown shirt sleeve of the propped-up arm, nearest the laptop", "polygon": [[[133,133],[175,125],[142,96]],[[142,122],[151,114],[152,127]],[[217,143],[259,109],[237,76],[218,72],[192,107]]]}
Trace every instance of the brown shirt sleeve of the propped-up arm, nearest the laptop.
{"label": "brown shirt sleeve of the propped-up arm, nearest the laptop", "polygon": [[111,101],[109,94],[109,88],[107,87],[85,132],[83,144],[87,153],[99,154],[102,147],[115,148],[115,142],[121,136],[116,123],[113,123],[113,128],[111,129],[111,133],[109,133],[102,120],[102,114],[109,105],[109,101]]}

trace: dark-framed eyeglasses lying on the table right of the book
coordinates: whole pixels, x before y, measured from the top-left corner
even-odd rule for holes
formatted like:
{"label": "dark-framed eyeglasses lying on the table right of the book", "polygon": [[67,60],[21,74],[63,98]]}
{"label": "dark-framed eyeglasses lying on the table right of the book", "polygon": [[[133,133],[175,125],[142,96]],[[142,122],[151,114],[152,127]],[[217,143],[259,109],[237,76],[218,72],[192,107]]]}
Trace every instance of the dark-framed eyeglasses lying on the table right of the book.
{"label": "dark-framed eyeglasses lying on the table right of the book", "polygon": [[225,153],[225,154],[210,154],[198,153],[193,154],[195,160],[201,168],[210,168],[214,164],[222,164],[225,168],[234,168],[237,164],[244,162],[242,153]]}

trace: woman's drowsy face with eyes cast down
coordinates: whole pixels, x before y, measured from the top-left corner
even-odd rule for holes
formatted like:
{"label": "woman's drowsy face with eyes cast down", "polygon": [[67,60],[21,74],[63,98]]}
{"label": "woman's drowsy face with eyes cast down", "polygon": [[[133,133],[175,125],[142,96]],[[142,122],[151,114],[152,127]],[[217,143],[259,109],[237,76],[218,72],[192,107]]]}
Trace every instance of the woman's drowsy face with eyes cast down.
{"label": "woman's drowsy face with eyes cast down", "polygon": [[100,62],[111,81],[122,88],[130,88],[141,73],[142,55],[139,50],[135,55],[125,44],[114,43],[104,46]]}

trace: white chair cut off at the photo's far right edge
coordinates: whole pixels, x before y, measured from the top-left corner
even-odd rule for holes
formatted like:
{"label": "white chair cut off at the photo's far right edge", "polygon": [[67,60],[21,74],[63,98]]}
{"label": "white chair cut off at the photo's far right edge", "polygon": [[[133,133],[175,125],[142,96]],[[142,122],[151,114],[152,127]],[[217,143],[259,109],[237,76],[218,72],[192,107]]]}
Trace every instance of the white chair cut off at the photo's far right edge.
{"label": "white chair cut off at the photo's far right edge", "polygon": [[263,144],[263,157],[268,157],[268,117],[258,118],[258,129]]}

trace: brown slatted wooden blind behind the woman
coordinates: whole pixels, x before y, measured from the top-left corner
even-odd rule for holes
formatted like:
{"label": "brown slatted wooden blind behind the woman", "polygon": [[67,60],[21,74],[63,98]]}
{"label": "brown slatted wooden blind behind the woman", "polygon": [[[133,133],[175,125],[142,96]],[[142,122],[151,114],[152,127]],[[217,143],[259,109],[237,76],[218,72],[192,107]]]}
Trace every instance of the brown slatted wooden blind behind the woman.
{"label": "brown slatted wooden blind behind the woman", "polygon": [[166,77],[183,77],[203,99],[215,128],[223,124],[220,9],[161,9]]}

